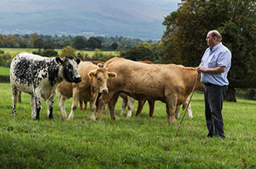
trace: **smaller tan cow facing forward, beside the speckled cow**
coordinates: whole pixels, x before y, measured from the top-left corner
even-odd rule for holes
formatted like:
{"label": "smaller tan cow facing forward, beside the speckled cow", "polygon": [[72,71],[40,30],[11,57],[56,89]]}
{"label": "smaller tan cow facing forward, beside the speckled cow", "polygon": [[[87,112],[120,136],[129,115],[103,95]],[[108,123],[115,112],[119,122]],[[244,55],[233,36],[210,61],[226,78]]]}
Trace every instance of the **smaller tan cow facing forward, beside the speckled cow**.
{"label": "smaller tan cow facing forward, beside the speckled cow", "polygon": [[90,119],[95,120],[94,107],[97,97],[99,93],[109,92],[107,81],[109,78],[116,77],[116,73],[110,73],[106,68],[99,68],[98,66],[89,62],[80,63],[78,72],[82,77],[82,82],[77,84],[61,82],[58,87],[58,92],[60,92],[59,105],[62,116],[67,116],[65,111],[65,100],[73,96],[73,103],[69,119],[73,119],[74,111],[78,106],[78,100],[82,98],[84,101],[89,101],[91,112]]}

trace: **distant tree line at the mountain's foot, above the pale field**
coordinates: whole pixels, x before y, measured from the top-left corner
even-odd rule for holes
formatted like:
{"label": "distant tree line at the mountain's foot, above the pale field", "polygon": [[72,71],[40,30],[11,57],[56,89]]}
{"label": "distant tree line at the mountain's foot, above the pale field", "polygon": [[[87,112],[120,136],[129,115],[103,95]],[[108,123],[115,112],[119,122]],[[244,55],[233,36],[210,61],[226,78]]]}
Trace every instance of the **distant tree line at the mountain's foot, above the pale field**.
{"label": "distant tree line at the mountain's foot, above the pale field", "polygon": [[[75,49],[126,50],[142,42],[144,41],[140,39],[131,39],[123,36],[92,36],[87,39],[83,35],[0,34],[0,47],[8,48],[62,49],[66,46],[71,46]],[[152,40],[149,40],[148,43],[152,43]]]}

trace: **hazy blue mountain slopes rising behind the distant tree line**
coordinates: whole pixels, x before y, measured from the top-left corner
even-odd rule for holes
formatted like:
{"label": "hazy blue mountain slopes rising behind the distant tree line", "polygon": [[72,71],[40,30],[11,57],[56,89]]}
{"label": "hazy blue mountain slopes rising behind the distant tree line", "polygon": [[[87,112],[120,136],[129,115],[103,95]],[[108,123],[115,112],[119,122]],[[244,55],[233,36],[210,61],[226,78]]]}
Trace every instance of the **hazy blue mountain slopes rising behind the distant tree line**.
{"label": "hazy blue mountain slopes rising behind the distant tree line", "polygon": [[160,40],[180,0],[2,0],[0,33]]}

